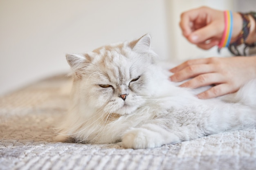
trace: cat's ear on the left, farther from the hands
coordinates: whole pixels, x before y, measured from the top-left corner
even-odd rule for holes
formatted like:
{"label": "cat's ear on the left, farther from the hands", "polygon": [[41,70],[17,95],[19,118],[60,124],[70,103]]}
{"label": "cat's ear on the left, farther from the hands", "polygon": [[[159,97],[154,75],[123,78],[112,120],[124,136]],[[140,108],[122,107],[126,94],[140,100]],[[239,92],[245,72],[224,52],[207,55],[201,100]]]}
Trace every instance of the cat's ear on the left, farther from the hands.
{"label": "cat's ear on the left, farther from the hands", "polygon": [[79,76],[83,68],[91,62],[91,57],[88,54],[66,54],[67,63],[72,71]]}

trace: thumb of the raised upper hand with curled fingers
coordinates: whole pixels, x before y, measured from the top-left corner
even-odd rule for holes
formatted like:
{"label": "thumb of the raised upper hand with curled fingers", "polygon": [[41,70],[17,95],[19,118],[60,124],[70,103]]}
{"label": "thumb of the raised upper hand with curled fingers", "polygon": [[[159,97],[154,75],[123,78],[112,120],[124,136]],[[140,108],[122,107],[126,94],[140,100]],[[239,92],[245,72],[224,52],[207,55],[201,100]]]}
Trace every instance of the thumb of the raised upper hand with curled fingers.
{"label": "thumb of the raised upper hand with curled fingers", "polygon": [[221,39],[224,27],[221,29],[219,25],[218,23],[211,23],[197,29],[189,35],[188,40],[193,44],[199,44],[211,38]]}

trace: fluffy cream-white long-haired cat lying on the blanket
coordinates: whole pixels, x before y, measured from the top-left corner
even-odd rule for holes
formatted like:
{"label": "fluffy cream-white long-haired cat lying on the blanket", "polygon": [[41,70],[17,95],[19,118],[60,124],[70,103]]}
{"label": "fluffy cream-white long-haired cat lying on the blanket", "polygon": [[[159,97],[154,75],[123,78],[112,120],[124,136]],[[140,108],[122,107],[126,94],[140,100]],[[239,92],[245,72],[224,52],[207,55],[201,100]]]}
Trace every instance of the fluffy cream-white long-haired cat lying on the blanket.
{"label": "fluffy cream-white long-haired cat lying on the blanket", "polygon": [[255,127],[256,80],[234,94],[198,99],[198,90],[169,80],[149,34],[66,58],[74,78],[72,106],[56,141],[155,148]]}

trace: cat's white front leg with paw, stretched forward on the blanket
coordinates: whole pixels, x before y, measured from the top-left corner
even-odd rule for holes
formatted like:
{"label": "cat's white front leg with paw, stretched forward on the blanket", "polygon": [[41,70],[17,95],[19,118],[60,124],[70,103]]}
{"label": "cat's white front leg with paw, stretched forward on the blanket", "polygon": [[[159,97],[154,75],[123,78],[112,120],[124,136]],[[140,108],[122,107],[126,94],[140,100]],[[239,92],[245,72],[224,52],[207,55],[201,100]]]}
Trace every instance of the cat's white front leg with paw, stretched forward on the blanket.
{"label": "cat's white front leg with paw, stretched forward on the blanket", "polygon": [[144,124],[139,128],[132,128],[122,137],[125,148],[155,148],[164,144],[180,142],[179,137],[156,124]]}

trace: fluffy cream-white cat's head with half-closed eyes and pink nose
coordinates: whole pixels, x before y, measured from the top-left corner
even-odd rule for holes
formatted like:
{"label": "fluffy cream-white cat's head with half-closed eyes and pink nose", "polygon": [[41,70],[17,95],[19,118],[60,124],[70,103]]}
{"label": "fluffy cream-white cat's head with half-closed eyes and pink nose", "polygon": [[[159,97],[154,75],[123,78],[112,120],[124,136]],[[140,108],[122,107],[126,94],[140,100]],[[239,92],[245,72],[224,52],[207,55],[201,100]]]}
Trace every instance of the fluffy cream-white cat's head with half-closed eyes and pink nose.
{"label": "fluffy cream-white cat's head with half-closed eyes and pink nose", "polygon": [[150,44],[150,35],[146,34],[138,40],[103,46],[83,55],[67,54],[77,106],[124,115],[144,104],[156,81],[156,55]]}

